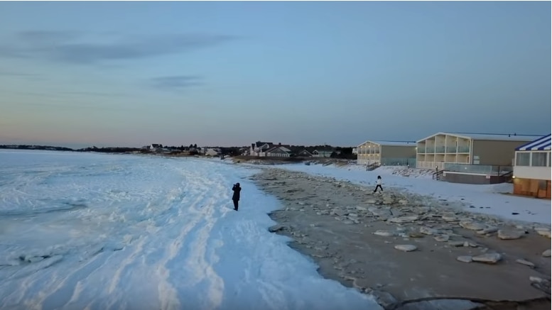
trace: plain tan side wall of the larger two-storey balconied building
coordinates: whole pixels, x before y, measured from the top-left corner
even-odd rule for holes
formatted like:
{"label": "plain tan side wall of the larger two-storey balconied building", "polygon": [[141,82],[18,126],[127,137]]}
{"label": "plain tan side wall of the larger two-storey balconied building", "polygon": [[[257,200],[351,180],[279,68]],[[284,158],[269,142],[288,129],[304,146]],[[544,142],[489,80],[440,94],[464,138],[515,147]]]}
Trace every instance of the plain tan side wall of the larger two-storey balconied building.
{"label": "plain tan side wall of the larger two-storey balconied building", "polygon": [[479,156],[479,165],[511,166],[516,148],[528,142],[531,142],[531,140],[527,140],[526,142],[473,140],[473,151],[470,161],[473,164],[476,156]]}

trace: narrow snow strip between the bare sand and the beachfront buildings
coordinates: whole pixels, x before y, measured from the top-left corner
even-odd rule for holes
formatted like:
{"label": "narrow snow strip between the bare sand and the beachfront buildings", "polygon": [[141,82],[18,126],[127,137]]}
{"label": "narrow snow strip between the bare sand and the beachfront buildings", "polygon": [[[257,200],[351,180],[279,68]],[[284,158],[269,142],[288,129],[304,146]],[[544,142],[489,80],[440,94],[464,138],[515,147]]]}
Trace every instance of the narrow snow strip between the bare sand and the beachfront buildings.
{"label": "narrow snow strip between the bare sand and the beachfront buildings", "polygon": [[[273,166],[274,167],[274,166]],[[499,216],[512,221],[545,223],[550,225],[552,218],[551,201],[549,199],[534,199],[524,196],[513,196],[512,184],[458,184],[441,182],[431,179],[431,174],[419,175],[416,169],[411,169],[411,177],[407,170],[399,167],[380,167],[377,170],[365,171],[357,165],[278,165],[278,168],[307,172],[310,175],[334,177],[348,180],[356,184],[374,185],[378,175],[381,175],[384,188],[405,190],[437,199],[447,199],[461,203],[459,207],[465,211]],[[395,174],[399,170],[401,174]],[[470,208],[471,206],[471,208]]]}

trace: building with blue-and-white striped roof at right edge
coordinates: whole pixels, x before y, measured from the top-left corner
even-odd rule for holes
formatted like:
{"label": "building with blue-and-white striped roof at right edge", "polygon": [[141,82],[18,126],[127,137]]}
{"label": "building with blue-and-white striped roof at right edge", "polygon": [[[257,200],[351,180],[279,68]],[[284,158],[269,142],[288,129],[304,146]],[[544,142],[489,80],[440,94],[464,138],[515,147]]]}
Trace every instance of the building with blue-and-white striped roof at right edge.
{"label": "building with blue-and-white striped roof at right edge", "polygon": [[514,194],[551,198],[551,135],[516,148]]}

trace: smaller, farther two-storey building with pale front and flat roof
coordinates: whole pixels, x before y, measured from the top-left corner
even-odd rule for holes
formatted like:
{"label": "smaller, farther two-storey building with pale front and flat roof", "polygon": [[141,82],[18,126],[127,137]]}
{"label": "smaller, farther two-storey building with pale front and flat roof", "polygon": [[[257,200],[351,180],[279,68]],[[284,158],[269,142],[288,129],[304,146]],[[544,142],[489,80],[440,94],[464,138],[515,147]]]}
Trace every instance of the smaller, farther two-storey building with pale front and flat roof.
{"label": "smaller, farther two-storey building with pale front and flat roof", "polygon": [[414,141],[366,141],[357,146],[359,165],[416,165]]}

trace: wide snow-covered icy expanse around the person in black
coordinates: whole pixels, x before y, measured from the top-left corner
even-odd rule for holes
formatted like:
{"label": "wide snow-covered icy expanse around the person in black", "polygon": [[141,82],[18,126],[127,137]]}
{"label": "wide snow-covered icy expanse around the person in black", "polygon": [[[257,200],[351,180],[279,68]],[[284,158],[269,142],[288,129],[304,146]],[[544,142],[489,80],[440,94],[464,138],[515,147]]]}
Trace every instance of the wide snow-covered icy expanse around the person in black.
{"label": "wide snow-covered icy expanse around the person in black", "polygon": [[1,150],[0,308],[381,309],[267,231],[279,205],[249,181],[254,172]]}

